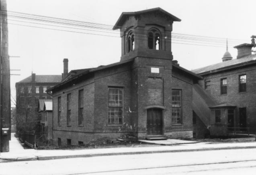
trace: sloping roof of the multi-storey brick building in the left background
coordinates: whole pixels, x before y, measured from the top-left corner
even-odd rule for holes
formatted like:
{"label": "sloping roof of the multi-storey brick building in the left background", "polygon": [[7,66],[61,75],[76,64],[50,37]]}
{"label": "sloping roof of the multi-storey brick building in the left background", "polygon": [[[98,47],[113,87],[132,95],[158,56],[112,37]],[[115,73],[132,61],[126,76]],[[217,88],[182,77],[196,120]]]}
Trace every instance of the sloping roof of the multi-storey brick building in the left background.
{"label": "sloping roof of the multi-storey brick building in the left background", "polygon": [[[59,83],[61,82],[61,75],[35,75],[35,82],[36,83]],[[32,75],[29,77],[18,81],[18,83],[31,83]]]}

